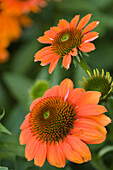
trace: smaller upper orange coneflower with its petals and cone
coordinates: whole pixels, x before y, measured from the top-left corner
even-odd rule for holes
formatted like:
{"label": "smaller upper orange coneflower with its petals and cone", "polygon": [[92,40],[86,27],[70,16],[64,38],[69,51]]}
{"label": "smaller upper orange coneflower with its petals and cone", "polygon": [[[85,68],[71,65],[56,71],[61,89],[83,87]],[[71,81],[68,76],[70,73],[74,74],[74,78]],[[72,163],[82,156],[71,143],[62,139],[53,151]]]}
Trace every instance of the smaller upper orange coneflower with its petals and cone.
{"label": "smaller upper orange coneflower with its petals and cone", "polygon": [[99,24],[99,21],[93,21],[86,26],[91,14],[84,16],[80,22],[79,17],[80,15],[76,15],[70,23],[61,19],[57,27],[51,27],[50,30],[45,31],[44,36],[38,38],[39,42],[51,44],[51,46],[39,50],[35,54],[34,61],[41,61],[42,66],[50,64],[50,74],[61,57],[63,57],[63,66],[69,69],[71,56],[77,56],[78,50],[90,52],[95,49],[91,41],[98,37],[98,33],[92,30]]}

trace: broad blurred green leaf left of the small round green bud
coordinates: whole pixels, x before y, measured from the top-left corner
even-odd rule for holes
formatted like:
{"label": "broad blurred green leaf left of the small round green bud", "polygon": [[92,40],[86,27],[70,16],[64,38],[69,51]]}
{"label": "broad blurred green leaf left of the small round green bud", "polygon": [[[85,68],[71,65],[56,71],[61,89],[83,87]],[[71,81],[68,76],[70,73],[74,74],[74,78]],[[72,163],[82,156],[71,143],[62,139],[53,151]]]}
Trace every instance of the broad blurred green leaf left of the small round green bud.
{"label": "broad blurred green leaf left of the small round green bud", "polygon": [[28,108],[29,101],[29,88],[32,85],[32,81],[26,76],[22,76],[16,73],[4,73],[3,79],[7,88],[17,101],[19,101],[25,109]]}

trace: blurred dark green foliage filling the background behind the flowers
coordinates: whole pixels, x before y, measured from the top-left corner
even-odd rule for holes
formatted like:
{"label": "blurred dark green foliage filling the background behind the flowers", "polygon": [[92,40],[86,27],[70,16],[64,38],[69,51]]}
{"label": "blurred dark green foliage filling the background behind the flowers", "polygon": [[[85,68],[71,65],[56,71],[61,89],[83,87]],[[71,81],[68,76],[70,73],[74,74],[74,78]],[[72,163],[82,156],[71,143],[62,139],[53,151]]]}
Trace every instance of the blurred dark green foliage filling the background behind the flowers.
{"label": "blurred dark green foliage filling the background behind the flowers", "polygon": [[[5,116],[1,123],[12,134],[0,133],[0,170],[57,170],[47,162],[42,168],[27,162],[24,158],[24,146],[19,144],[20,125],[29,112],[32,102],[30,90],[36,80],[47,80],[49,87],[60,84],[68,77],[73,80],[75,87],[86,73],[71,64],[67,71],[59,63],[52,75],[48,74],[48,66],[41,67],[40,62],[34,63],[34,54],[44,45],[37,41],[44,31],[56,26],[60,19],[70,21],[76,14],[81,18],[92,13],[91,21],[100,21],[95,31],[99,38],[94,42],[96,50],[84,57],[91,68],[103,68],[113,76],[113,0],[61,0],[48,2],[47,7],[40,13],[31,13],[34,23],[30,28],[23,30],[20,39],[9,47],[10,60],[0,65],[0,113],[5,109]],[[46,89],[46,88],[45,88]],[[42,95],[42,92],[39,94]],[[113,119],[113,100],[105,103],[111,119]],[[0,131],[2,128],[0,127]],[[81,165],[67,161],[64,170],[113,170],[113,125],[107,127],[108,135],[104,143],[90,145],[92,161]],[[4,167],[4,168],[3,168]],[[6,167],[6,168],[5,168]],[[7,168],[8,167],[8,168]]]}

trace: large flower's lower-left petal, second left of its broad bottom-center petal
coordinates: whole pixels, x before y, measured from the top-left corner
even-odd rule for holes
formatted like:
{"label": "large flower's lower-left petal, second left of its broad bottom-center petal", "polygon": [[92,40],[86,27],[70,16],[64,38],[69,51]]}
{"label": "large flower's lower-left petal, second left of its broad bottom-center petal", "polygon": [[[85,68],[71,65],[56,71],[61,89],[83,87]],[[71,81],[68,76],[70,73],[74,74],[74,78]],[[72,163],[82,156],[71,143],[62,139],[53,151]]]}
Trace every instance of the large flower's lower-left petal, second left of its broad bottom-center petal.
{"label": "large flower's lower-left petal, second left of its broad bottom-center petal", "polygon": [[25,157],[28,161],[34,159],[37,150],[40,147],[40,142],[32,137],[25,147]]}

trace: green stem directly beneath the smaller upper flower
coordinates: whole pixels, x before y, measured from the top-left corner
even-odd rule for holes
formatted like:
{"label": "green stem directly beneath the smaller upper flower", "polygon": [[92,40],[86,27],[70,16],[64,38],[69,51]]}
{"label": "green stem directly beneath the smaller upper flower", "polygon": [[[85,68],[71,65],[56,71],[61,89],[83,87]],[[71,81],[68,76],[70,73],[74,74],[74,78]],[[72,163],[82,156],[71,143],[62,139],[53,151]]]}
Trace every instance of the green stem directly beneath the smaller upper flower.
{"label": "green stem directly beneath the smaller upper flower", "polygon": [[79,59],[76,58],[76,62],[80,65],[80,67],[88,74],[88,72],[92,73],[91,68],[88,66],[88,64],[85,62],[85,60],[81,57],[81,55],[78,54]]}

